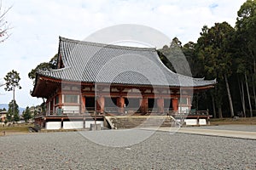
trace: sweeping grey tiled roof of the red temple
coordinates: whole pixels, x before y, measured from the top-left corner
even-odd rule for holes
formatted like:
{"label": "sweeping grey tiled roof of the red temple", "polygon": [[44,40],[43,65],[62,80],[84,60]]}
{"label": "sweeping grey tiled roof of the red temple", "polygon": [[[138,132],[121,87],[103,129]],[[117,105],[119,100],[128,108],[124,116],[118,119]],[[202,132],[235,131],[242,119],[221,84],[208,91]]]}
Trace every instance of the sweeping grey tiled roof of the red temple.
{"label": "sweeping grey tiled roof of the red temple", "polygon": [[38,75],[72,82],[103,82],[171,87],[204,87],[205,81],[170,71],[155,48],[133,48],[83,42],[60,37],[59,54],[64,68],[38,71]]}

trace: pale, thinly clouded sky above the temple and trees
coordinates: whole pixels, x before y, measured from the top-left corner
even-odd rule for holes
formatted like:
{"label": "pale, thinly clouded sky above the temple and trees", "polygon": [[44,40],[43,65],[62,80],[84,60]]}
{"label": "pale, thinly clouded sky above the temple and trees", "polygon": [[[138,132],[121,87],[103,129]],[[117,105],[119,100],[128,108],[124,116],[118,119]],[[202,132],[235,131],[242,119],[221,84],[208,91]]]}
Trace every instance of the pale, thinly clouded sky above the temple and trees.
{"label": "pale, thinly clouded sky above the temple and trees", "polygon": [[[2,0],[13,6],[6,20],[11,36],[0,43],[0,83],[7,72],[20,72],[22,89],[16,91],[18,105],[38,105],[27,77],[58,50],[58,37],[83,40],[95,31],[119,24],[150,26],[183,44],[196,42],[204,25],[227,21],[235,26],[236,13],[245,0]],[[11,92],[0,88],[0,104],[9,103]]]}

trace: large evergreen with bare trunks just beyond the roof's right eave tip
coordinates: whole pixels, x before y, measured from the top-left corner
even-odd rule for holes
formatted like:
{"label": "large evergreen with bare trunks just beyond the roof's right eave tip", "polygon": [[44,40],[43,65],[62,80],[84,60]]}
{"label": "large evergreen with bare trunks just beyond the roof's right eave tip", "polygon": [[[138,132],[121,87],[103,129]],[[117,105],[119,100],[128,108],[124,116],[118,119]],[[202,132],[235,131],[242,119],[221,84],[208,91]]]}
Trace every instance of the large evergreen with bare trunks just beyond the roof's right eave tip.
{"label": "large evergreen with bare trunks just beyond the roof's right eave tip", "polygon": [[231,75],[232,52],[230,42],[235,29],[227,22],[216,23],[210,29],[202,28],[201,37],[198,39],[196,48],[199,59],[204,65],[205,74],[210,78],[218,78],[215,88],[215,101],[218,107],[219,117],[222,117],[222,105],[224,87],[227,90],[230,101],[230,116],[234,116],[233,102],[230,93],[229,77]]}

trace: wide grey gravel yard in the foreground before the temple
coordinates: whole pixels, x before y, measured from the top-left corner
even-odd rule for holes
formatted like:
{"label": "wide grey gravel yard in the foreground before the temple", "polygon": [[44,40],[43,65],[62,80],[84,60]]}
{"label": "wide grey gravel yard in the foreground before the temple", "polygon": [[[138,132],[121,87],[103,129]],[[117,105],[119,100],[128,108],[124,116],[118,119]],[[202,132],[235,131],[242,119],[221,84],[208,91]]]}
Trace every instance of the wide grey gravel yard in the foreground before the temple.
{"label": "wide grey gravel yard in the foreground before the temple", "polygon": [[[106,132],[117,131],[93,133]],[[156,132],[116,148],[68,132],[3,136],[0,144],[0,169],[256,169],[256,140],[248,139]]]}

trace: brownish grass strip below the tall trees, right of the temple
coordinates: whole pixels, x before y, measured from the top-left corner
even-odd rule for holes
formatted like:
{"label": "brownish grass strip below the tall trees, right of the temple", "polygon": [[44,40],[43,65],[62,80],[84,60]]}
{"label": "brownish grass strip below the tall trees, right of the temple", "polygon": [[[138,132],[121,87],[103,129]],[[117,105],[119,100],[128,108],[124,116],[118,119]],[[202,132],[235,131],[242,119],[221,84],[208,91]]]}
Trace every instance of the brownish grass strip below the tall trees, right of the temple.
{"label": "brownish grass strip below the tall trees, right of the temple", "polygon": [[222,119],[210,119],[211,125],[228,125],[228,124],[242,124],[242,125],[256,125],[256,117],[238,117],[234,118],[222,118]]}

